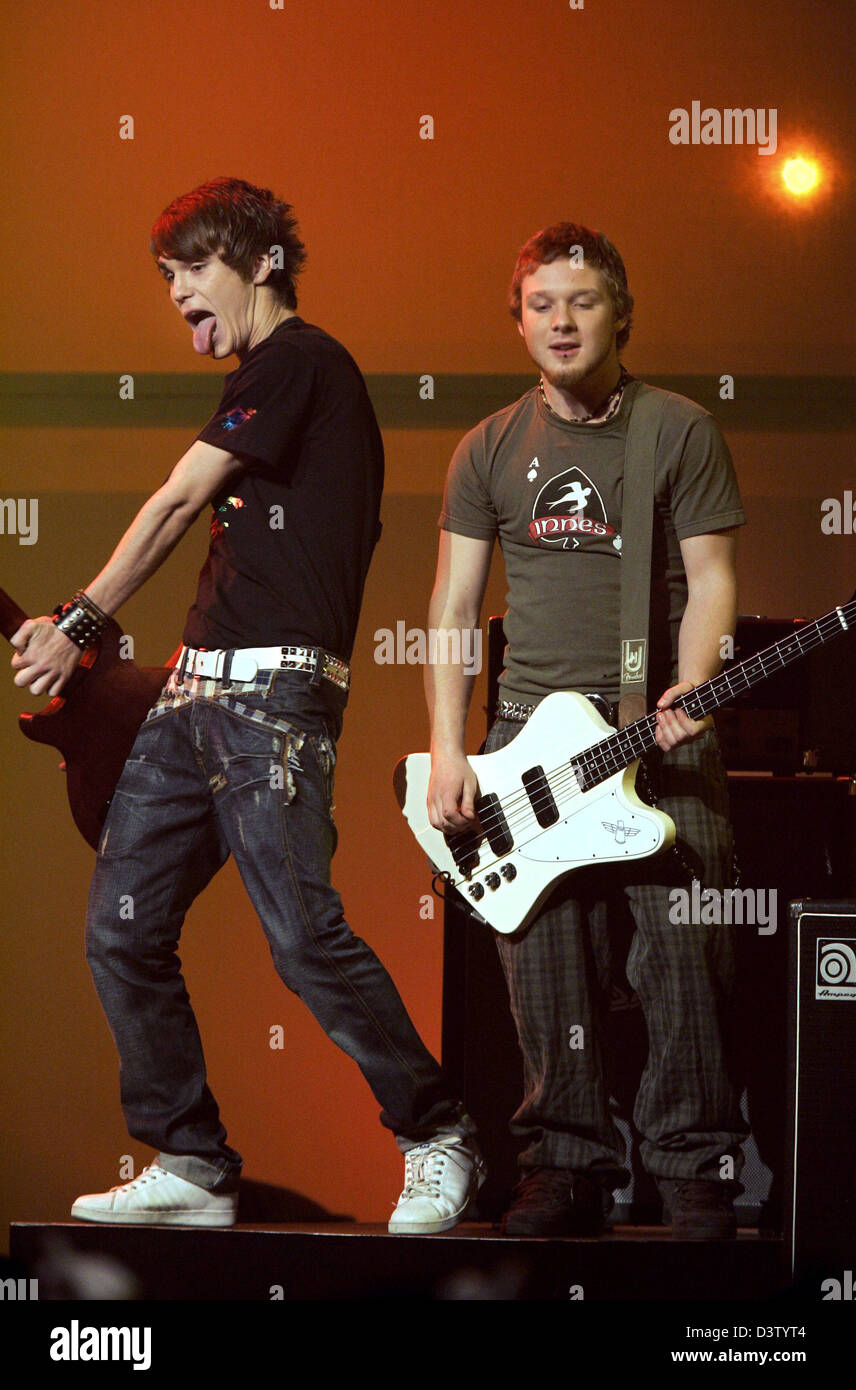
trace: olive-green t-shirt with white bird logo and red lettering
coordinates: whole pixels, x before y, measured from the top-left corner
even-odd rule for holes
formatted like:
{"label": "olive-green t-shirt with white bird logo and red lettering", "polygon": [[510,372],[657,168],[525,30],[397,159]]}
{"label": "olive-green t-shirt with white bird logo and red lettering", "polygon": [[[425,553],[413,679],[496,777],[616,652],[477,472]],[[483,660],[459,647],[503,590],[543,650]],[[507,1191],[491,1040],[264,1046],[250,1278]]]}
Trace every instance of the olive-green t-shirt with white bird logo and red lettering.
{"label": "olive-green t-shirt with white bird logo and red lettering", "polygon": [[[620,694],[621,503],[627,423],[639,391],[663,398],[655,470],[649,694],[677,680],[686,606],[680,541],[745,523],[728,446],[684,396],[629,381],[610,418],[574,424],[536,386],[457,446],[439,525],[493,539],[506,563],[504,699]],[[632,466],[632,461],[631,461]]]}

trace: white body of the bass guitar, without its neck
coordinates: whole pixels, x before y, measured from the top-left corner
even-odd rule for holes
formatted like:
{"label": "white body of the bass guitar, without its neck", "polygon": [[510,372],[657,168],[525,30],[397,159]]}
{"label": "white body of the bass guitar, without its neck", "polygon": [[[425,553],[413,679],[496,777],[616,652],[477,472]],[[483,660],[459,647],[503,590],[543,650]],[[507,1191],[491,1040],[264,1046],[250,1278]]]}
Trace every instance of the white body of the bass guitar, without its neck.
{"label": "white body of the bass guitar, without its neck", "polygon": [[[636,795],[638,759],[589,791],[579,788],[568,767],[577,753],[614,733],[584,695],[559,691],[538,705],[511,744],[470,758],[482,802],[493,805],[495,796],[502,803],[511,845],[503,849],[499,812],[492,816],[488,806],[479,820],[495,824],[493,844],[475,835],[477,862],[464,869],[460,845],[456,858],[450,841],[428,820],[431,756],[411,753],[396,766],[399,805],[428,859],[496,931],[527,926],[556,881],[574,869],[643,859],[673,844],[673,820]],[[546,820],[550,803],[556,819],[543,826],[538,815]]]}

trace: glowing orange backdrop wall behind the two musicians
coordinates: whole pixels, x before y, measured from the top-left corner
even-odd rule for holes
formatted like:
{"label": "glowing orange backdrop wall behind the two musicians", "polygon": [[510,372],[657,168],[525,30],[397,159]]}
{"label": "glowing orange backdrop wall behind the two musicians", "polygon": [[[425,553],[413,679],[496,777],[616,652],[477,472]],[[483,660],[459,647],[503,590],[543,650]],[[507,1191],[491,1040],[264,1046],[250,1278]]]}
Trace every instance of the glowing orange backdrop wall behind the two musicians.
{"label": "glowing orange backdrop wall behind the two musicians", "polygon": [[[3,21],[1,373],[214,373],[151,267],[174,196],[235,174],[293,202],[308,246],[300,311],[364,373],[514,373],[516,252],[560,218],[602,227],[636,297],[627,366],[793,377],[853,371],[853,150],[846,3],[756,0],[46,0]],[[775,107],[778,152],[668,142],[673,107]],[[132,115],[132,140],[120,120]],[[431,115],[434,140],[420,139]],[[810,207],[782,160],[823,161]],[[233,363],[228,364],[229,367]],[[118,389],[118,388],[117,388]],[[132,410],[133,404],[128,403]],[[431,403],[425,403],[429,411]],[[852,588],[850,537],[820,502],[853,485],[841,432],[730,431],[749,527],[742,612],[816,614]],[[200,425],[201,425],[200,420]],[[471,423],[475,423],[475,417]],[[340,744],[334,865],[349,920],[439,1051],[441,913],[397,815],[396,759],[425,745],[421,673],[377,666],[374,632],[422,624],[445,468],[460,431],[388,430],[385,534],[370,575]],[[0,582],[50,610],[103,564],[193,436],[0,430],[0,496],[39,499],[39,542],[0,535]],[[200,521],[122,610],[138,660],[181,635]],[[499,564],[488,612],[503,607]],[[474,702],[472,742],[484,727]],[[0,687],[3,1220],[64,1218],[118,1182],[126,1138],[113,1042],[83,962],[92,856],[50,752]],[[53,759],[53,762],[51,762]],[[384,1220],[400,1159],[363,1079],[277,979],[233,866],[195,905],[182,951],[213,1088],[249,1176]],[[282,1024],[285,1048],[271,1051]],[[485,1040],[489,1045],[489,1040]]]}

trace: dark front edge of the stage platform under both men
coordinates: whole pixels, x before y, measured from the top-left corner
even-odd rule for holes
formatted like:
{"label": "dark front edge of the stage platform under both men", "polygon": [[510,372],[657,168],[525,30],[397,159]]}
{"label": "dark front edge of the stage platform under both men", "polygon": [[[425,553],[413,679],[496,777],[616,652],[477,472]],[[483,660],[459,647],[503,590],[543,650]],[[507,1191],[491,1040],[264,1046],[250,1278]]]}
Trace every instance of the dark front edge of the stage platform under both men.
{"label": "dark front edge of the stage platform under both men", "polygon": [[[118,1268],[150,1301],[218,1300],[764,1300],[789,1287],[780,1238],[675,1241],[663,1226],[616,1226],[589,1240],[502,1236],[463,1223],[435,1236],[390,1236],[359,1223],[254,1223],[228,1230],[13,1222],[11,1257],[53,1291],[56,1270]],[[83,1257],[81,1261],[78,1257]],[[86,1258],[88,1257],[88,1258]],[[54,1270],[54,1275],[50,1272]],[[101,1294],[100,1297],[111,1297]]]}

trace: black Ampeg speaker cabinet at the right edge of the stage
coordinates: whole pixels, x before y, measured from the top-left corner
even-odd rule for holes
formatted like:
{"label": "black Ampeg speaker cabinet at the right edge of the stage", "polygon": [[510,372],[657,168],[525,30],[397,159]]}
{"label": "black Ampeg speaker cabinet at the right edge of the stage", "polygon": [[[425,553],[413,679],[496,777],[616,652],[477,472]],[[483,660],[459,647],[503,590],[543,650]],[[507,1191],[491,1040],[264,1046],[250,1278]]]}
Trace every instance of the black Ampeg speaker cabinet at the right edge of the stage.
{"label": "black Ampeg speaker cabinet at the right edge of the stage", "polygon": [[[789,906],[787,1234],[795,1279],[853,1297],[856,1275],[856,901]],[[821,1289],[824,1291],[821,1291]]]}

